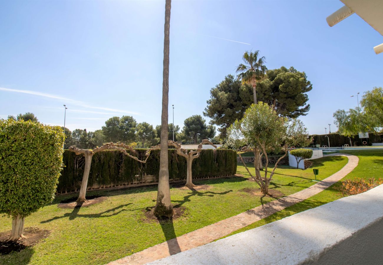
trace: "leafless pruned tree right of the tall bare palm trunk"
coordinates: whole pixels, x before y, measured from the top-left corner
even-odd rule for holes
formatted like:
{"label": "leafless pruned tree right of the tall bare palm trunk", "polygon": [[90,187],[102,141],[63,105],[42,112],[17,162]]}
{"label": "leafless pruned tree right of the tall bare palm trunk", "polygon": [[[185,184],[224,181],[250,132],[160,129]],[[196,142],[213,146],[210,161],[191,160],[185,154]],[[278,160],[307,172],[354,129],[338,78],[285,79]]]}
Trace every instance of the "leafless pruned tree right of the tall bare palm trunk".
{"label": "leafless pruned tree right of the tall bare palm trunk", "polygon": [[205,139],[205,140],[202,140],[202,142],[198,145],[197,150],[190,150],[188,152],[187,149],[182,149],[181,145],[178,144],[177,142],[173,142],[173,141],[169,140],[169,146],[174,146],[175,149],[177,150],[177,154],[185,157],[185,159],[186,159],[186,162],[187,162],[187,177],[186,177],[186,184],[185,184],[185,186],[187,186],[190,189],[196,186],[196,185],[193,184],[193,181],[192,181],[191,165],[193,164],[193,160],[194,159],[200,157],[200,153],[201,153],[202,145],[203,144],[210,144],[214,148],[217,148],[217,146],[215,146],[212,142],[210,142],[209,140]]}

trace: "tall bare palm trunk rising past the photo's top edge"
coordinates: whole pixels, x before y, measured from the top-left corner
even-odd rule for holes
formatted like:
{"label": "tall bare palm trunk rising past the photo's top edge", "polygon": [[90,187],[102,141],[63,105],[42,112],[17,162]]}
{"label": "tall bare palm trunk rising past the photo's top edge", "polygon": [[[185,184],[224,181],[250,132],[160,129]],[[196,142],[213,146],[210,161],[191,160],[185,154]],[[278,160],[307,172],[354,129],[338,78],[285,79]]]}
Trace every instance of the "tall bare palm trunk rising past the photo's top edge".
{"label": "tall bare palm trunk rising past the photo's top edge", "polygon": [[169,107],[169,32],[171,0],[165,1],[164,26],[164,70],[162,79],[162,113],[160,137],[160,172],[158,178],[157,203],[154,215],[158,218],[172,217],[173,206],[170,202],[169,167],[168,167],[168,107]]}

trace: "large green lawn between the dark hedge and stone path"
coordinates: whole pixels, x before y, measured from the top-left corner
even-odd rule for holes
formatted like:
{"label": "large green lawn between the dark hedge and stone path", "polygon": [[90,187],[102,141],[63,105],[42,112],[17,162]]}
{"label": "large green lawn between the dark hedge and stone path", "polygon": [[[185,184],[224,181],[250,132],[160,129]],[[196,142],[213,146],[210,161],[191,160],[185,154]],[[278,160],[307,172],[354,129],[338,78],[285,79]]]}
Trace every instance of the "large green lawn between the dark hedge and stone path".
{"label": "large green lawn between the dark hedge and stone path", "polygon": [[[314,163],[314,167],[319,168],[318,178],[323,179],[340,170],[347,158],[326,157]],[[243,166],[238,166],[238,173],[246,174]],[[314,184],[311,182],[311,169],[280,166],[276,173],[270,188],[285,195]],[[173,205],[184,207],[186,215],[161,224],[143,221],[143,211],[155,204],[156,186],[88,192],[89,196],[103,195],[108,199],[75,209],[57,208],[57,203],[76,195],[57,196],[51,205],[25,220],[25,227],[51,231],[49,237],[21,252],[0,256],[0,264],[105,264],[261,204],[260,197],[241,191],[243,188],[258,188],[247,178],[219,178],[195,183],[210,185],[211,189],[172,188]],[[265,197],[262,203],[271,200],[274,199]],[[0,232],[10,228],[11,219],[0,217]]]}

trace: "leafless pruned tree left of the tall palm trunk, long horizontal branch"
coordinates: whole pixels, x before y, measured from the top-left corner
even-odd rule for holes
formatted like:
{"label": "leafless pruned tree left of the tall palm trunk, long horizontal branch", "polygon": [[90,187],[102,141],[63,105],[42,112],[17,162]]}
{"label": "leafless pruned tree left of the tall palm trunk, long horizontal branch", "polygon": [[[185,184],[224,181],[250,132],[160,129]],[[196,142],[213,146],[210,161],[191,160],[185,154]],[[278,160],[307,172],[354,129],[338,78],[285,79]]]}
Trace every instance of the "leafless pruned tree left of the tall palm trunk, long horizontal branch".
{"label": "leafless pruned tree left of the tall palm trunk, long horizontal branch", "polygon": [[92,164],[92,157],[94,154],[104,151],[104,150],[118,150],[122,152],[124,155],[127,155],[128,157],[133,158],[134,160],[137,160],[141,163],[146,163],[147,158],[149,157],[152,150],[155,150],[156,148],[148,149],[145,153],[146,159],[145,160],[139,160],[137,157],[129,154],[126,152],[126,150],[129,150],[132,154],[136,154],[136,150],[133,149],[133,147],[123,144],[123,143],[117,143],[114,144],[113,142],[109,142],[106,144],[103,144],[103,146],[97,147],[95,149],[79,149],[76,146],[69,147],[69,151],[75,152],[76,155],[83,155],[85,157],[85,167],[84,167],[84,173],[82,177],[81,187],[80,187],[80,194],[79,198],[77,199],[77,203],[83,203],[86,201],[85,194],[87,192],[88,187],[88,178],[89,178],[89,172],[90,172],[90,165]]}

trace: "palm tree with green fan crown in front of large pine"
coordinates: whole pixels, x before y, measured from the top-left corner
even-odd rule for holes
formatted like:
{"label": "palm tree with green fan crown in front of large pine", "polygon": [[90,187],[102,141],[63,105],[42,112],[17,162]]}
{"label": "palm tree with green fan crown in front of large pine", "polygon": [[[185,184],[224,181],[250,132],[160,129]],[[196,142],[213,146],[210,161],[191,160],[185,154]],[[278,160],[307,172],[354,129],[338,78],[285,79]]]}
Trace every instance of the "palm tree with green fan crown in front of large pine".
{"label": "palm tree with green fan crown in front of large pine", "polygon": [[236,71],[236,73],[239,73],[238,77],[242,79],[242,82],[253,87],[254,104],[257,104],[257,81],[262,80],[267,71],[265,57],[258,57],[259,51],[246,51],[242,56],[245,64],[238,65]]}

